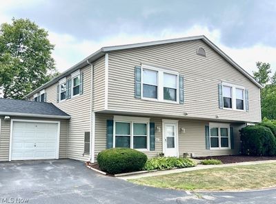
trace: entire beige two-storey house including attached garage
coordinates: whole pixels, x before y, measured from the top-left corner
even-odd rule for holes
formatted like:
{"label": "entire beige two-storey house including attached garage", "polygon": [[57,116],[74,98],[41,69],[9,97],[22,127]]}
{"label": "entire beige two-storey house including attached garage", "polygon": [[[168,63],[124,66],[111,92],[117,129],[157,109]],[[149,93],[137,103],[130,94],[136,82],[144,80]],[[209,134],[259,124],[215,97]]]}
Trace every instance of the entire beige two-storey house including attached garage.
{"label": "entire beige two-storey house including attached garage", "polygon": [[261,121],[260,88],[204,36],[101,48],[29,101],[0,100],[9,104],[0,106],[0,160],[95,162],[110,147],[239,154],[239,130]]}

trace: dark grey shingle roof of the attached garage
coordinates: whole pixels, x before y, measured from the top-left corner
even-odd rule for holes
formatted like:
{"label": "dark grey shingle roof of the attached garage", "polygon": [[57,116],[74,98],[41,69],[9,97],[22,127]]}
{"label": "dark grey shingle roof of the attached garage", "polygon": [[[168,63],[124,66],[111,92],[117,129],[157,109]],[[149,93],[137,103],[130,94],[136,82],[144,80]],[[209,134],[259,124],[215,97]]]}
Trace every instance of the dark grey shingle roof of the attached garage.
{"label": "dark grey shingle roof of the attached garage", "polygon": [[63,112],[52,103],[15,99],[0,99],[0,115],[70,119],[70,115],[66,114],[66,112]]}

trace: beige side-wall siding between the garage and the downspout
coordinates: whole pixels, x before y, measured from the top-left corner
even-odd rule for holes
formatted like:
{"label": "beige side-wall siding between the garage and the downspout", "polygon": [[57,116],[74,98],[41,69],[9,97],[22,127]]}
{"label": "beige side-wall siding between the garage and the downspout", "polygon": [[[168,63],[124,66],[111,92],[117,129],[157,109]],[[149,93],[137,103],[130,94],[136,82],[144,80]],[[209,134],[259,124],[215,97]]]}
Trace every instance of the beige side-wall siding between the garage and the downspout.
{"label": "beige side-wall siding between the garage and the downspout", "polygon": [[[68,158],[88,161],[89,154],[84,151],[84,132],[90,132],[91,112],[91,68],[81,69],[83,72],[83,94],[57,103],[57,85],[46,88],[47,102],[53,103],[71,116],[68,124]],[[70,76],[68,76],[70,77]]]}

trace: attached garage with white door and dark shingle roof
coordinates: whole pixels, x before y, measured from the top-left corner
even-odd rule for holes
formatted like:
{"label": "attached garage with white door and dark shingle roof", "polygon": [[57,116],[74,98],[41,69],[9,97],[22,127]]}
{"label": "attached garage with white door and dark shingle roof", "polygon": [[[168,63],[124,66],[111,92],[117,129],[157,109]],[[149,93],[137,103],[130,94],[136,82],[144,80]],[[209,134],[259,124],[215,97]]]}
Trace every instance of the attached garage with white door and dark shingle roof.
{"label": "attached garage with white door and dark shingle roof", "polygon": [[66,158],[69,119],[52,103],[0,99],[0,161]]}

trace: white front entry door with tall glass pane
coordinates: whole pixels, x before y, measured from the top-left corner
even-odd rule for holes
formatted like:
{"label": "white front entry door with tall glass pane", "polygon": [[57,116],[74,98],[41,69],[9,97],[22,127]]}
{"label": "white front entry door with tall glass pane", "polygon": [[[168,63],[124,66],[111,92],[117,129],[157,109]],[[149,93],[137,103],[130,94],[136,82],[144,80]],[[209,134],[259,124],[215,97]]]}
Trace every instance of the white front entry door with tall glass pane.
{"label": "white front entry door with tall glass pane", "polygon": [[177,123],[164,123],[164,154],[177,156]]}

